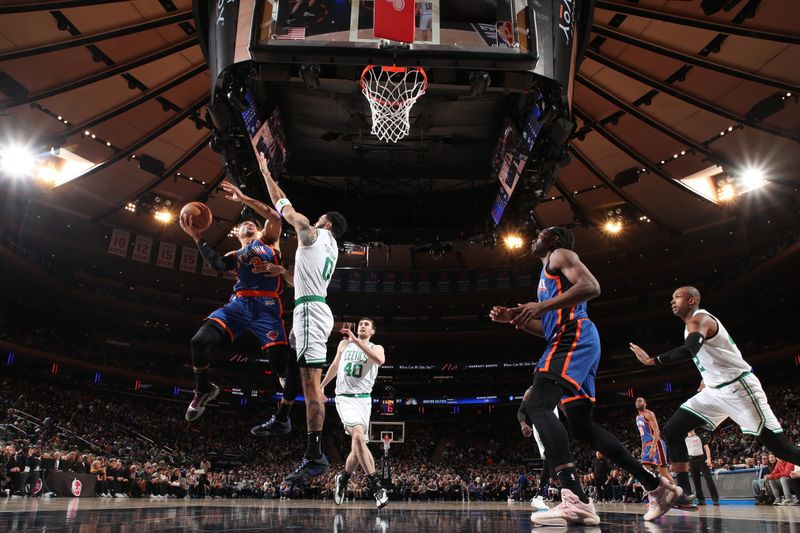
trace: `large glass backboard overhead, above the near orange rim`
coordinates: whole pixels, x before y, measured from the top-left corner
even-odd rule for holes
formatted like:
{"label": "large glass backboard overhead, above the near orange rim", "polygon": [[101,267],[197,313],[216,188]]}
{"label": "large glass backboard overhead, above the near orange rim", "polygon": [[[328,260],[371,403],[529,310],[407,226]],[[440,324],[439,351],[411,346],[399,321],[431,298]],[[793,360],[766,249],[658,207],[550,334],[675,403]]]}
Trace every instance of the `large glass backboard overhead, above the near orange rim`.
{"label": "large glass backboard overhead, above the near orange rim", "polygon": [[449,66],[532,70],[535,17],[526,0],[415,2],[414,42],[374,35],[376,2],[262,0],[251,54],[259,62]]}

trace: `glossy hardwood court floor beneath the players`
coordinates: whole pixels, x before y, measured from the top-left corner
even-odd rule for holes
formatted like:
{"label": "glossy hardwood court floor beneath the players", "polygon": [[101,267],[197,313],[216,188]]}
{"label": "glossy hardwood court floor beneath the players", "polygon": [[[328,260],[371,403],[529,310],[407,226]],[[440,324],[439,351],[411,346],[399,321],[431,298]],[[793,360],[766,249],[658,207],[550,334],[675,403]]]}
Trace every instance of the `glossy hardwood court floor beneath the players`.
{"label": "glossy hardwood court floor beneath the players", "polygon": [[[583,532],[800,533],[800,507],[723,505],[672,510],[645,523],[644,505],[600,504],[598,527]],[[0,531],[275,531],[349,533],[531,532],[523,503],[390,503],[275,500],[0,499]],[[537,528],[536,531],[566,531]]]}

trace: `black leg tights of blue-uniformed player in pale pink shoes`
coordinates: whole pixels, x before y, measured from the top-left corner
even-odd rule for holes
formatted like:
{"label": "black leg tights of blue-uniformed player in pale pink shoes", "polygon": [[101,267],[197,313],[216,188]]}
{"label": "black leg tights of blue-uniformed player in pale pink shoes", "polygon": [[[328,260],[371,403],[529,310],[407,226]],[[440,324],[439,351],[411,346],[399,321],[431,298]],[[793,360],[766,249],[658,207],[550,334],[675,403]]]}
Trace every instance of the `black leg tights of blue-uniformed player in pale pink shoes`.
{"label": "black leg tights of blue-uniformed player in pale pink shoes", "polygon": [[[560,384],[536,374],[533,391],[527,402],[528,417],[536,426],[544,444],[545,456],[556,472],[564,465],[575,462],[567,431],[553,412],[564,393],[565,390]],[[658,486],[658,479],[645,470],[616,437],[594,423],[591,403],[581,400],[571,402],[564,411],[570,432],[575,439],[586,442],[593,450],[603,453],[611,461],[631,472],[647,490],[653,490]]]}

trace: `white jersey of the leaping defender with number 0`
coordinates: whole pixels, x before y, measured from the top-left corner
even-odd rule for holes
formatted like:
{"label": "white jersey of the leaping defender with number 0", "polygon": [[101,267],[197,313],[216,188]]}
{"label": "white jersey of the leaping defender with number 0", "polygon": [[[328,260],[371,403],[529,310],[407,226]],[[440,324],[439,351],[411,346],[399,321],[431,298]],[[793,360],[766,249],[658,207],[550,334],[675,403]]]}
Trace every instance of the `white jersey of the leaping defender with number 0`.
{"label": "white jersey of the leaping defender with number 0", "polygon": [[317,228],[317,240],[310,246],[298,246],[294,265],[294,297],[328,296],[339,248],[333,234]]}

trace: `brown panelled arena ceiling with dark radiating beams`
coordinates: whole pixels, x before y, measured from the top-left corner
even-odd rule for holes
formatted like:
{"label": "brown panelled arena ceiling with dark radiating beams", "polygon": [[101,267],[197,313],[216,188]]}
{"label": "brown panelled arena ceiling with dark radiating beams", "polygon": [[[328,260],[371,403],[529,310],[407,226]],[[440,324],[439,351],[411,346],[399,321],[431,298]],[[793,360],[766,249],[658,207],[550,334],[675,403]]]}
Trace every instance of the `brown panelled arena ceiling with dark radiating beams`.
{"label": "brown panelled arena ceiling with dark radiating beams", "polygon": [[[575,84],[572,159],[536,207],[539,224],[583,221],[576,231],[591,249],[609,247],[603,226],[617,209],[628,227],[616,239],[631,242],[712,227],[745,204],[797,215],[800,10],[790,0],[728,4],[706,15],[700,2],[597,0]],[[38,201],[180,240],[177,225],[126,205],[143,195],[207,199],[218,218],[209,240],[226,237],[239,207],[216,189],[223,167],[208,146],[210,79],[191,9],[190,0],[0,6],[3,142],[51,142],[94,164]],[[392,151],[363,149],[367,125],[353,110],[368,108],[355,82],[309,90],[292,78],[274,89],[291,154],[286,179],[309,211],[341,209],[362,230],[353,239],[381,240],[365,228],[389,225],[443,238],[480,231],[497,190],[488,159],[505,112],[500,93],[448,98],[442,89],[421,100],[414,113],[428,144]],[[681,181],[715,164],[760,168],[768,183],[752,200],[719,205]],[[632,169],[632,183],[615,182]]]}

